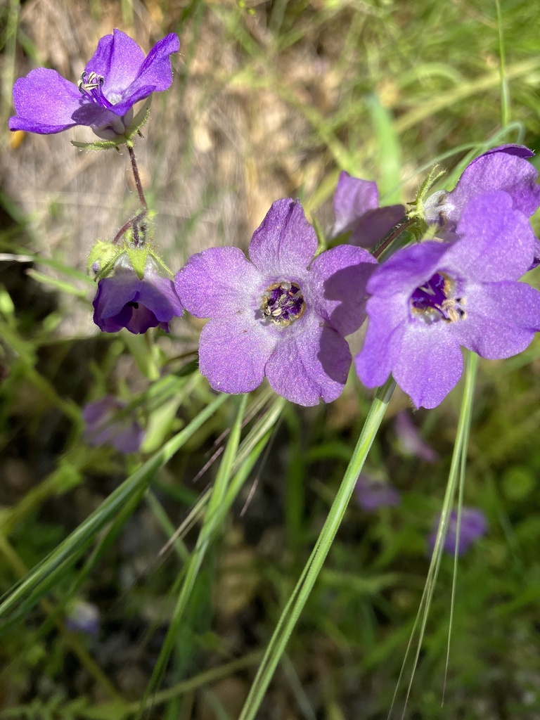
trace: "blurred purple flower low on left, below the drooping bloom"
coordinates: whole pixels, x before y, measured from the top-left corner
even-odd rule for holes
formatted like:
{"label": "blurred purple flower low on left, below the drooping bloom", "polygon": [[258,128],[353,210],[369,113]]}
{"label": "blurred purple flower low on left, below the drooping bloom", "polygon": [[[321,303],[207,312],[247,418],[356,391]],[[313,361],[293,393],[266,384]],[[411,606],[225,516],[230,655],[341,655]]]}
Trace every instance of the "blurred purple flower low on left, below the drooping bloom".
{"label": "blurred purple flower low on left, below the drooping bloom", "polygon": [[144,431],[131,414],[122,413],[126,407],[125,402],[113,395],[88,402],[82,413],[86,426],[84,440],[94,447],[108,443],[125,454],[137,452]]}

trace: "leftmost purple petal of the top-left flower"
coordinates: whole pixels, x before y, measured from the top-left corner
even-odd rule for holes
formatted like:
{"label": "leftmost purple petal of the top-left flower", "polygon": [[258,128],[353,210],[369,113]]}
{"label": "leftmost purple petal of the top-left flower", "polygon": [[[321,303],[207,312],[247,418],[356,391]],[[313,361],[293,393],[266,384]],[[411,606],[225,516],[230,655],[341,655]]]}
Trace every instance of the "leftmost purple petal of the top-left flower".
{"label": "leftmost purple petal of the top-left flower", "polygon": [[81,93],[55,70],[36,68],[14,84],[13,102],[17,116],[9,119],[10,130],[48,135],[76,125]]}

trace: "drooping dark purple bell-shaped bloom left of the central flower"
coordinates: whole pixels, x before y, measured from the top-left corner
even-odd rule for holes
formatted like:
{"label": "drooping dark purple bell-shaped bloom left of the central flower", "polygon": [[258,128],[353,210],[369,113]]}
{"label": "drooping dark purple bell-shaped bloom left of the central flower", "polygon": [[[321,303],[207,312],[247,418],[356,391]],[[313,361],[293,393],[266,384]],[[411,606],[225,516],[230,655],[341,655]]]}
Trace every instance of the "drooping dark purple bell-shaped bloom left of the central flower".
{"label": "drooping dark purple bell-shaped bloom left of the central flower", "polygon": [[140,279],[123,255],[114,265],[114,275],[99,281],[93,305],[94,323],[104,333],[127,328],[138,334],[156,327],[168,333],[169,321],[183,311],[174,282],[158,274],[150,257]]}

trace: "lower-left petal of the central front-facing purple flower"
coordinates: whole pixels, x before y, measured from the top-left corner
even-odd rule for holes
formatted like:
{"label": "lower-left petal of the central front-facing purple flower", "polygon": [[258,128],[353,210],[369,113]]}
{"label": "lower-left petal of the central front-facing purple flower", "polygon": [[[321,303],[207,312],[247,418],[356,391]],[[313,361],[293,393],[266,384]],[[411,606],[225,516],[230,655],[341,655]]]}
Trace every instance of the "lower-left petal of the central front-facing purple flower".
{"label": "lower-left petal of the central front-facing purple flower", "polygon": [[261,384],[278,336],[247,315],[215,318],[202,328],[199,370],[214,390],[250,392]]}

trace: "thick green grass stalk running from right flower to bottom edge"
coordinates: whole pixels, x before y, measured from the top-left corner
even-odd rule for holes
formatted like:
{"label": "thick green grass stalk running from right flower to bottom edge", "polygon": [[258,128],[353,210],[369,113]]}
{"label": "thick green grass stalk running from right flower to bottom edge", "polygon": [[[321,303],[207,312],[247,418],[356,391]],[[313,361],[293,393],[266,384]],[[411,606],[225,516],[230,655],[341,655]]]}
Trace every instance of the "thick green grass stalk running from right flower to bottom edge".
{"label": "thick green grass stalk running from right flower to bottom edge", "polygon": [[300,575],[300,580],[298,580],[279,618],[269,646],[266,648],[264,658],[258,668],[256,678],[251,685],[239,720],[253,720],[256,718],[258,708],[261,706],[264,693],[266,693],[266,688],[268,688],[276,667],[282,658],[289,637],[297,624],[298,618],[300,618],[300,613],[302,613],[307,598],[310,596],[313,585],[315,585],[315,581],[323,567],[326,556],[330,551],[333,539],[341,525],[348,501],[354,491],[356,480],[358,480],[366,456],[372,446],[382,418],[384,418],[384,413],[387,410],[394,387],[395,382],[393,379],[389,379],[377,392],[377,396],[372,403],[372,407],[369,410],[364,427],[360,433],[354,453],[351,456],[351,461],[343,476],[336,499],[330,508],[323,529],[315,543],[315,548],[302,571],[302,575]]}

